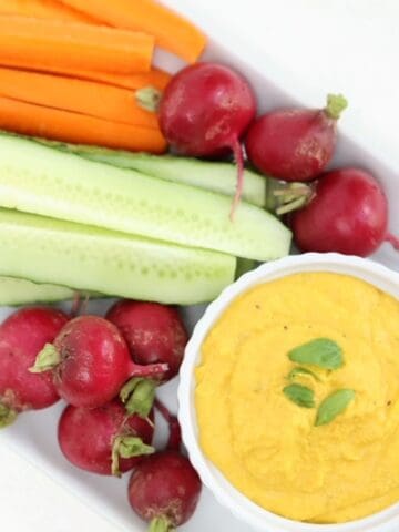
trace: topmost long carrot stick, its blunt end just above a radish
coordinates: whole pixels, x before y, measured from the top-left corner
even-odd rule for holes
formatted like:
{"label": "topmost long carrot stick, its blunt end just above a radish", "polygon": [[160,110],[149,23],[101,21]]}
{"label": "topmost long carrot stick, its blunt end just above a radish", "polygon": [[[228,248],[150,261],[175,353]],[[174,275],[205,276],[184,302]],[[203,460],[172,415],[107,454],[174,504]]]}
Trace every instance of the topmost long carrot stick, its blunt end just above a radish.
{"label": "topmost long carrot stick, its blunt end just above a radish", "polygon": [[206,37],[194,24],[154,0],[62,1],[110,25],[150,33],[158,47],[190,63],[198,59],[206,44]]}

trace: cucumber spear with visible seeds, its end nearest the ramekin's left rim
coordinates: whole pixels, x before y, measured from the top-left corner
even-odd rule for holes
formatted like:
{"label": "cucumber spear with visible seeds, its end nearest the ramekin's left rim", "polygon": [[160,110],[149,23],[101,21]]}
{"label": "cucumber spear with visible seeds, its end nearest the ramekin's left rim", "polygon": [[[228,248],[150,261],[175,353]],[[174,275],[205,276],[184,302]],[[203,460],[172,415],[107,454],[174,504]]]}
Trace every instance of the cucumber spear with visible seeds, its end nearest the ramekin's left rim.
{"label": "cucumber spear with visible seeds, its end nearest the ramekin's left rim", "polygon": [[0,275],[109,296],[191,305],[234,280],[236,258],[0,209]]}

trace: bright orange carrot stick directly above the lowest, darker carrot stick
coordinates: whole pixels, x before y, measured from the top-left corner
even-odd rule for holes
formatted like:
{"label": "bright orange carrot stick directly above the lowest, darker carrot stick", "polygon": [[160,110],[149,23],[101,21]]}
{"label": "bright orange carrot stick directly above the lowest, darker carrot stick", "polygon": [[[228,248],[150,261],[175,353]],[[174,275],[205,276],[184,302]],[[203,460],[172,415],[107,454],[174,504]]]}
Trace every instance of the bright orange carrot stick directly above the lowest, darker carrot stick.
{"label": "bright orange carrot stick directly above the lowest, darker carrot stick", "polygon": [[0,68],[0,94],[110,122],[158,129],[156,114],[140,108],[133,91],[103,83]]}

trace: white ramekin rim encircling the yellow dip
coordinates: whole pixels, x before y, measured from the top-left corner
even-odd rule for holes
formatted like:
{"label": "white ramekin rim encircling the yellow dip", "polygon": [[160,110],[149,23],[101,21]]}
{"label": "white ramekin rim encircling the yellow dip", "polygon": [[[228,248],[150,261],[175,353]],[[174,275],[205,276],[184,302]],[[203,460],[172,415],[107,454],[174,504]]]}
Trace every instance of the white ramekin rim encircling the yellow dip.
{"label": "white ramekin rim encircling the yellow dip", "polygon": [[285,257],[259,266],[228,286],[207,307],[203,318],[195,327],[181,370],[178,418],[190,459],[203,483],[213,492],[218,502],[255,530],[264,532],[398,532],[399,503],[369,518],[334,525],[295,522],[268,512],[238,492],[206,459],[200,447],[194,405],[194,369],[200,361],[201,346],[207,332],[226,307],[248,288],[299,272],[335,272],[351,275],[399,298],[399,273],[368,259],[338,254],[304,254]]}

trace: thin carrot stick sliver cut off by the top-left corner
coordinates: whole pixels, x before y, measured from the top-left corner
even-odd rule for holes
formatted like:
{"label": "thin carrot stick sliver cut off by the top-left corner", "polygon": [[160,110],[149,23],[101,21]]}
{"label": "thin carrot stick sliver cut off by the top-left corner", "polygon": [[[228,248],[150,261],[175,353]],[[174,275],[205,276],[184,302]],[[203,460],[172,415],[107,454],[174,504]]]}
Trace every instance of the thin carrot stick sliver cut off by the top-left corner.
{"label": "thin carrot stick sliver cut off by the top-left corner", "polygon": [[0,0],[0,14],[94,23],[91,17],[53,0]]}

